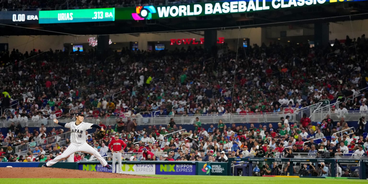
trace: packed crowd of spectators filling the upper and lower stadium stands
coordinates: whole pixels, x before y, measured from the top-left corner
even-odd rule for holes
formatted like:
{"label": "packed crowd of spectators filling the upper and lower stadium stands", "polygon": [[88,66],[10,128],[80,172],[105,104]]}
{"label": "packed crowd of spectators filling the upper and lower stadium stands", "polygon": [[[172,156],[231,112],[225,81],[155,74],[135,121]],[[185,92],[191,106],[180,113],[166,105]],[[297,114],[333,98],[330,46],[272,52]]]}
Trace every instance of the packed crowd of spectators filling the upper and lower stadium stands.
{"label": "packed crowd of spectators filling the upper and lower stadium stands", "polygon": [[[15,116],[2,114],[2,121],[10,127],[7,134],[0,134],[0,144],[16,146],[61,134],[62,129],[45,132],[43,125],[39,131],[29,132],[23,130],[22,123],[73,117],[82,110],[86,118],[121,117],[114,127],[104,125],[109,133],[105,139],[96,140],[92,133],[87,141],[101,155],[107,155],[107,145],[118,132],[128,145],[125,152],[133,153],[125,158],[128,160],[227,162],[233,157],[273,157],[277,152],[293,158],[294,153],[316,154],[318,149],[363,155],[368,145],[364,117],[357,131],[347,135],[350,130],[343,117],[328,115],[315,126],[306,116],[294,123],[288,116],[298,108],[321,100],[334,102],[338,97],[346,100],[340,112],[368,110],[365,91],[357,99],[348,100],[367,86],[367,53],[363,52],[367,41],[364,35],[354,41],[347,36],[344,44],[336,40],[333,46],[319,49],[308,44],[253,45],[247,56],[240,49],[238,61],[236,52],[220,54],[219,49],[208,53],[200,47],[161,52],[110,50],[112,57],[106,61],[95,60],[93,50],[74,54],[32,50],[22,54],[14,49],[0,58],[1,106],[9,108],[13,99],[18,99],[19,105]],[[356,51],[350,47],[354,43]],[[207,60],[214,55],[215,59]],[[77,108],[69,113],[73,107]],[[137,130],[134,117],[146,112],[195,114],[198,118],[188,132],[169,134],[181,130],[174,116],[168,125]],[[331,113],[337,112],[332,109]],[[227,127],[228,123],[221,120],[207,130],[202,128],[201,114],[227,113],[280,113],[283,118],[277,127]],[[122,119],[125,117],[126,122]],[[346,129],[342,135],[335,134]],[[315,138],[322,141],[314,142]],[[67,148],[66,142],[61,146],[43,142],[24,158],[8,147],[1,150],[1,158],[3,162],[53,159]],[[89,155],[75,155],[75,160],[86,158]]]}

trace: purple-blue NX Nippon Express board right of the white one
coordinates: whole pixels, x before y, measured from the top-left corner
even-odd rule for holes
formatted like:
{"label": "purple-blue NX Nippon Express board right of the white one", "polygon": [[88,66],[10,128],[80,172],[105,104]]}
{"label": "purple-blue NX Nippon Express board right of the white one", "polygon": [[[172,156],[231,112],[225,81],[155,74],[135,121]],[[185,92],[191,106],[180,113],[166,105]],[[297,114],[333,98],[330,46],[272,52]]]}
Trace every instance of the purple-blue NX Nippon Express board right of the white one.
{"label": "purple-blue NX Nippon Express board right of the white one", "polygon": [[195,175],[195,164],[156,164],[156,174]]}

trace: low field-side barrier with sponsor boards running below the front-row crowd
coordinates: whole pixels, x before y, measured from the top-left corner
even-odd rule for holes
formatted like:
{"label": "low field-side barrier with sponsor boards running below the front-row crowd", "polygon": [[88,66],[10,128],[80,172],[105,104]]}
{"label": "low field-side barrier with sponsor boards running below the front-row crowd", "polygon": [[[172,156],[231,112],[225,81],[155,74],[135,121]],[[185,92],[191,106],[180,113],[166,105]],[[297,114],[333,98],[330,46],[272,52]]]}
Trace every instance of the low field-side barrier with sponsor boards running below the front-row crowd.
{"label": "low field-side barrier with sponsor boards running below the front-row crowd", "polygon": [[[319,164],[328,168],[325,176],[308,173]],[[0,167],[41,167],[45,162],[0,162]],[[108,161],[112,163],[112,161]],[[265,172],[263,166],[270,166],[272,173]],[[100,162],[59,162],[52,167],[86,171],[112,172]],[[348,169],[350,177],[344,176]],[[280,171],[283,170],[283,171]],[[318,169],[316,169],[318,170]],[[124,174],[145,175],[212,175],[212,176],[278,176],[278,177],[315,177],[367,179],[368,159],[294,159],[294,158],[229,158],[228,162],[191,162],[191,161],[123,161],[121,171]]]}

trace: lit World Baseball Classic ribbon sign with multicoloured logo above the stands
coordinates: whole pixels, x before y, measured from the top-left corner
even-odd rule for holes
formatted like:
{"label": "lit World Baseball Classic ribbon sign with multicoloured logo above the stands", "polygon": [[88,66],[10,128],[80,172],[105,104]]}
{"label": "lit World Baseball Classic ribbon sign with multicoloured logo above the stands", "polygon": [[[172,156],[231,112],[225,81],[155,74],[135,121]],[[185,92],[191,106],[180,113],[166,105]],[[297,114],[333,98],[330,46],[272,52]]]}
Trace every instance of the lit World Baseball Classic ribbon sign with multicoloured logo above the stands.
{"label": "lit World Baseball Classic ribbon sign with multicoloured logo above the stands", "polygon": [[365,0],[238,0],[192,3],[167,6],[137,6],[116,8],[116,20],[151,20],[160,18],[196,17],[247,13],[263,10],[329,5]]}

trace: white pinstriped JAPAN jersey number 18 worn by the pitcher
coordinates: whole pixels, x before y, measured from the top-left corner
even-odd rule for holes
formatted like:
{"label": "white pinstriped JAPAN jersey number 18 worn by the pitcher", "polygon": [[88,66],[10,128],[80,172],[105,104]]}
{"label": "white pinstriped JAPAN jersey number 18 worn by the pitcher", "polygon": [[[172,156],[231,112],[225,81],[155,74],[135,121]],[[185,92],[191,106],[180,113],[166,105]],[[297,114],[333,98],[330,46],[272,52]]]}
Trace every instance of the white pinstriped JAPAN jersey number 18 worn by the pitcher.
{"label": "white pinstriped JAPAN jersey number 18 worn by the pitcher", "polygon": [[85,122],[76,125],[75,121],[65,124],[65,128],[70,128],[70,142],[86,143],[86,130],[91,129],[92,125],[92,123]]}

